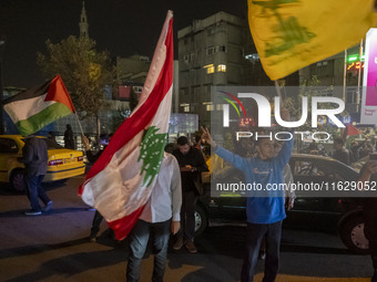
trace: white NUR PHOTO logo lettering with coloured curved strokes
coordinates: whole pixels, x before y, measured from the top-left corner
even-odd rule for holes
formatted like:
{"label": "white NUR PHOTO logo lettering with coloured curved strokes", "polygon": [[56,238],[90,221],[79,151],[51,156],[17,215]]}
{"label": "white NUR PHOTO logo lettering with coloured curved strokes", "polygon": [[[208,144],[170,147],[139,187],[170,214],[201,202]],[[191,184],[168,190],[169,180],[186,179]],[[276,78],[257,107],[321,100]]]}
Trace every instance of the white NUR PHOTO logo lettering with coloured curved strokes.
{"label": "white NUR PHOTO logo lettering with coloured curved strokes", "polygon": [[[257,93],[237,93],[237,95],[234,95],[230,92],[225,91],[218,91],[222,94],[225,94],[225,96],[221,96],[224,101],[227,102],[227,104],[223,104],[223,127],[230,127],[230,123],[232,122],[230,118],[230,105],[233,106],[233,108],[236,111],[238,118],[241,118],[240,109],[237,108],[237,105],[231,100],[233,98],[241,109],[243,111],[244,116],[246,117],[246,111],[245,106],[242,104],[240,98],[244,98],[245,102],[251,98],[256,103],[256,106],[258,108],[258,116],[257,116],[257,126],[259,128],[269,128],[272,127],[272,106],[269,101],[262,94]],[[231,98],[230,98],[231,97]],[[252,101],[251,101],[252,102]],[[320,108],[320,104],[335,104],[336,107],[334,108]],[[333,96],[312,96],[310,98],[310,112],[312,112],[312,128],[318,127],[318,118],[327,118],[328,121],[332,121],[334,125],[336,125],[339,128],[346,127],[339,118],[336,116],[345,109],[345,103],[343,100],[338,97]],[[286,127],[286,128],[297,128],[303,126],[307,119],[308,119],[308,97],[304,96],[302,97],[302,113],[300,118],[298,121],[284,121],[281,115],[281,97],[275,96],[274,97],[274,116],[275,121],[278,125]],[[252,133],[252,132],[236,132],[236,139],[240,140],[240,138],[243,137],[253,137],[255,139],[261,137],[268,137],[269,139],[273,139],[275,137],[276,140],[289,140],[295,135],[300,135],[302,139],[304,139],[304,135],[312,135],[312,138],[314,140],[328,140],[330,138],[330,135],[326,132],[277,132],[275,134],[269,133],[267,135],[258,135],[258,133]],[[274,135],[274,136],[273,136]],[[288,136],[288,137],[287,137]]]}

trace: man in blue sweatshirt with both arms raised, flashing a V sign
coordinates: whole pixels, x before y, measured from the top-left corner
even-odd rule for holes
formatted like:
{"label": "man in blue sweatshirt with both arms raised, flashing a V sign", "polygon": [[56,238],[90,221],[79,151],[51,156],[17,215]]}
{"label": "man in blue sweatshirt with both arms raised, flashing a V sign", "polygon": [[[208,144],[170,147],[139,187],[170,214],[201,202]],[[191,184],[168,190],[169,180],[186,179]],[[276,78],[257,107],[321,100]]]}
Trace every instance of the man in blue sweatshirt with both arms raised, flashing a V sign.
{"label": "man in blue sweatshirt with both arms raised, flashing a V sign", "polygon": [[[282,111],[282,118],[288,121],[289,114]],[[274,142],[269,138],[256,140],[257,157],[244,158],[218,146],[208,130],[203,128],[203,138],[214,148],[215,154],[230,161],[245,175],[246,184],[257,184],[259,191],[248,191],[246,201],[247,241],[241,281],[251,282],[255,274],[262,240],[266,239],[266,261],[263,282],[275,281],[279,264],[282,222],[285,219],[284,190],[273,190],[283,184],[283,170],[288,163],[293,138],[285,142],[279,154],[274,157]]]}

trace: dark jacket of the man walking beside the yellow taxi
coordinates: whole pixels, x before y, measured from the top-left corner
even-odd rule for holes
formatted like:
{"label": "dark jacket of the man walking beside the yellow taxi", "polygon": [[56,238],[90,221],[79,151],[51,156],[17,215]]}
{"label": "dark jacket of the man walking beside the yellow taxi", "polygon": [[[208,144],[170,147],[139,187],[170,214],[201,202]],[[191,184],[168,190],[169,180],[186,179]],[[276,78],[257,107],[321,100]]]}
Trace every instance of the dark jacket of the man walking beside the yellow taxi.
{"label": "dark jacket of the man walking beside the yellow taxi", "polygon": [[27,176],[45,175],[49,161],[45,142],[35,136],[26,138],[21,161],[24,164]]}

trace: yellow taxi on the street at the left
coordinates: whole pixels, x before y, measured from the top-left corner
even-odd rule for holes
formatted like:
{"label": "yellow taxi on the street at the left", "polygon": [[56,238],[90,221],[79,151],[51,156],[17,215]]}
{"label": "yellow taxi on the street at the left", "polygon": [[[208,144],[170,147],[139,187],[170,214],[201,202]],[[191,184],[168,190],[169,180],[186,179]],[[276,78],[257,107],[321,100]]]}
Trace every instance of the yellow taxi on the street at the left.
{"label": "yellow taxi on the street at the left", "polygon": [[[82,175],[85,171],[83,153],[67,149],[55,140],[43,138],[48,145],[49,163],[43,182],[51,182]],[[10,182],[17,191],[24,190],[22,157],[24,137],[21,135],[0,135],[0,182]]]}

